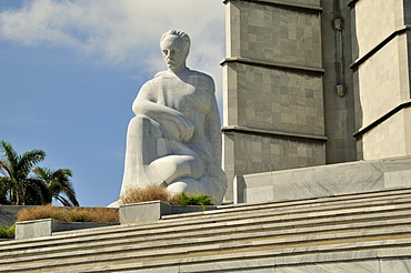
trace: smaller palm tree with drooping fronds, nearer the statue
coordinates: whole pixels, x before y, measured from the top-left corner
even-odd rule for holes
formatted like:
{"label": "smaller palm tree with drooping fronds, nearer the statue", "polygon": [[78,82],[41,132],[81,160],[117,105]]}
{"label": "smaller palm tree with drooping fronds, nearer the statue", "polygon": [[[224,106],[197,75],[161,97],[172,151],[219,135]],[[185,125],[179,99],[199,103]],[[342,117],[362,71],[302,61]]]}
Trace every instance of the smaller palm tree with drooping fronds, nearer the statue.
{"label": "smaller palm tree with drooping fronds, nearer the statue", "polygon": [[[34,168],[33,172],[36,176],[46,183],[49,189],[49,200],[51,203],[52,199],[60,201],[64,206],[78,206],[79,202],[76,199],[76,191],[70,182],[72,172],[70,169],[59,169],[53,171],[49,168]],[[63,193],[66,198],[61,195]]]}

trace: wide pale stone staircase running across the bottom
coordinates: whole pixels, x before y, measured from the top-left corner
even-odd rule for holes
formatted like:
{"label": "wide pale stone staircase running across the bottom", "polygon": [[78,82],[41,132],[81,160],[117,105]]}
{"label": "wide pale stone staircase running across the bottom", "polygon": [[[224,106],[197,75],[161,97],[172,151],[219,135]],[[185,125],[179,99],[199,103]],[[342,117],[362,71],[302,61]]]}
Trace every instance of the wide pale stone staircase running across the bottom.
{"label": "wide pale stone staircase running across the bottom", "polygon": [[0,242],[0,272],[410,272],[411,189]]}

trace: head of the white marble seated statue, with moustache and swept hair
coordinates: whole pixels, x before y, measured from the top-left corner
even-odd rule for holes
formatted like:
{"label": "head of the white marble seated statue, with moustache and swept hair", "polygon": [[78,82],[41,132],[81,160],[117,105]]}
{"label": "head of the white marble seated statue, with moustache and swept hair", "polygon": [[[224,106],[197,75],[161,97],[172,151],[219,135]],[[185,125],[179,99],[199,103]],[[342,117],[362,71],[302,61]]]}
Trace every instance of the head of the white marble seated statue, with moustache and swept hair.
{"label": "head of the white marble seated statue, with moustache and swept hair", "polygon": [[186,68],[186,60],[190,52],[190,37],[178,30],[170,30],[162,34],[160,48],[167,67],[172,72]]}

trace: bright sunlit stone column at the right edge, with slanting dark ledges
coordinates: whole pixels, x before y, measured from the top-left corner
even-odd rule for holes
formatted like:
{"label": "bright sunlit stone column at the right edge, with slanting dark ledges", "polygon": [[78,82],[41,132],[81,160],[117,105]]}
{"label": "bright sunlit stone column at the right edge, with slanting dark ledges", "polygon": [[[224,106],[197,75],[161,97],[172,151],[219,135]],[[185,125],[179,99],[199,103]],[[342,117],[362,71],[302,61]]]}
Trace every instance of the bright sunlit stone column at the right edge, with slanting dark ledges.
{"label": "bright sunlit stone column at the right edge, with slanting dark ledges", "polygon": [[351,0],[358,159],[411,155],[411,1]]}

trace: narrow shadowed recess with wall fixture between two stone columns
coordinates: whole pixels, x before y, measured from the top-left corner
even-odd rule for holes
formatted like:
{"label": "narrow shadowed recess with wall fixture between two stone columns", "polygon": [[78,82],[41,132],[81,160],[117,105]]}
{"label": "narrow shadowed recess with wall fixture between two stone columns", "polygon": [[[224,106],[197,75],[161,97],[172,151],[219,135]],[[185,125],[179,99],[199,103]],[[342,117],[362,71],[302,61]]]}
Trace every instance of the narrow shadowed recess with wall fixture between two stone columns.
{"label": "narrow shadowed recess with wall fixture between two stone columns", "polygon": [[350,7],[322,0],[321,8],[327,163],[355,161]]}

